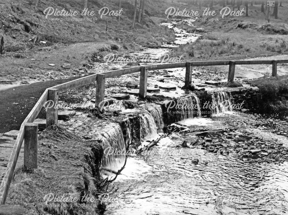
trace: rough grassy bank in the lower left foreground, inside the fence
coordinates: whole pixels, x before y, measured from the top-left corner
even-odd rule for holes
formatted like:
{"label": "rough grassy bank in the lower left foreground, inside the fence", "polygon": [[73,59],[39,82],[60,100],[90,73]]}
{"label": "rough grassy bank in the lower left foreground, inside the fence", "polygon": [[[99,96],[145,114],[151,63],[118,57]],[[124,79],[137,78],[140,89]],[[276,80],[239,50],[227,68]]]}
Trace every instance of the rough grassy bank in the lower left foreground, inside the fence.
{"label": "rough grassy bank in the lower left foreground, inside the fence", "polygon": [[[105,203],[98,198],[103,193],[102,146],[84,142],[64,128],[53,129],[39,136],[38,169],[16,169],[6,204],[23,205],[24,214],[102,214]],[[60,201],[62,196],[73,201]]]}

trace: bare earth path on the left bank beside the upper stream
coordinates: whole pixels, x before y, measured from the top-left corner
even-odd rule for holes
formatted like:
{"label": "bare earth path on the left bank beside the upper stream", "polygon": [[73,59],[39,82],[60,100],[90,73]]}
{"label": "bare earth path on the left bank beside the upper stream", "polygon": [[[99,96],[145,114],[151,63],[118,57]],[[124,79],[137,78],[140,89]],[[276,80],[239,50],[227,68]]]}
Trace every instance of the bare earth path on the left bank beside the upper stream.
{"label": "bare earth path on the left bank beside the upper stream", "polygon": [[[25,53],[1,57],[0,90],[21,84],[81,76],[90,68],[94,53],[120,48],[115,41],[74,43],[38,47]],[[115,48],[116,47],[116,48]],[[54,64],[50,66],[48,64]]]}

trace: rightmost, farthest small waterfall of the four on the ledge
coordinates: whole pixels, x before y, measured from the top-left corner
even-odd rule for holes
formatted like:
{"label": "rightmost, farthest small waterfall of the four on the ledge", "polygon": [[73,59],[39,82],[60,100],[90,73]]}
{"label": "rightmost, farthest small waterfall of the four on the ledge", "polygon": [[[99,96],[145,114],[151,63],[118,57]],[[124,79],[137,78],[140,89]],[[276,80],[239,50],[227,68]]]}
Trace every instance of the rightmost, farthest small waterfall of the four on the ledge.
{"label": "rightmost, farthest small waterfall of the four on the ledge", "polygon": [[212,96],[212,107],[213,114],[224,113],[231,111],[231,95],[227,92],[214,92]]}

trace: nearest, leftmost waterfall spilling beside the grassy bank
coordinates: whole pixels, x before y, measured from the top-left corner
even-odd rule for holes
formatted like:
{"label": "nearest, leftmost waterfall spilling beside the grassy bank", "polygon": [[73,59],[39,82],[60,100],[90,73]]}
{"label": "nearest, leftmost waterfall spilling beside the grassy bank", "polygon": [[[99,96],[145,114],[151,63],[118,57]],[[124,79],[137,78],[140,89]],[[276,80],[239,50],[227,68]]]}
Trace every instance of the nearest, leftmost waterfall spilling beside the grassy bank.
{"label": "nearest, leftmost waterfall spilling beside the grassy bank", "polygon": [[96,138],[103,144],[102,168],[117,172],[124,164],[126,157],[126,144],[120,125],[110,123]]}

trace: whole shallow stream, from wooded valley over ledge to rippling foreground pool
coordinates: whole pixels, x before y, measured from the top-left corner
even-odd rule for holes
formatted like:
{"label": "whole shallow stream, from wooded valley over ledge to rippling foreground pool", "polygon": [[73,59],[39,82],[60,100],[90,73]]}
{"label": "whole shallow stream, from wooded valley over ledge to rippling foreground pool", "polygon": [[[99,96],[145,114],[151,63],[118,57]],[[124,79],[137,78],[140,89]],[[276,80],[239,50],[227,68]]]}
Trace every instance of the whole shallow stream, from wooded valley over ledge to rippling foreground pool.
{"label": "whole shallow stream, from wooded valley over ledge to rippling foreground pool", "polygon": [[[163,25],[173,28],[177,36],[175,43],[165,44],[165,47],[167,45],[175,47],[179,44],[191,43],[199,37],[197,34],[189,34],[176,28],[170,23],[163,23]],[[141,65],[158,64],[163,62],[161,56],[167,55],[169,52],[169,49],[165,47],[143,48],[139,52],[128,52],[119,56],[137,59],[137,62]],[[149,57],[147,58],[147,56]],[[115,59],[114,57],[112,56],[109,59]],[[172,59],[173,62],[179,60],[181,59]],[[92,72],[121,69],[126,64],[126,61],[109,60],[105,62],[99,60]],[[201,82],[204,79],[225,79],[224,73],[213,73],[212,75],[211,72],[206,71],[200,74],[195,70],[193,70],[193,73],[192,81],[194,82]],[[107,79],[105,99],[111,98],[112,94],[128,93],[130,94],[130,101],[137,102],[138,98],[135,94],[139,90],[127,89],[126,87],[126,83],[130,79],[135,79],[139,83],[139,74]],[[164,82],[159,81],[159,79],[164,79]],[[181,90],[184,79],[185,69],[183,68],[151,71],[148,76],[147,88],[155,88],[156,85],[158,87],[175,86],[176,90],[161,89],[159,93],[174,98],[192,95],[193,99],[187,97],[184,102],[195,104],[199,98],[194,94]],[[12,100],[18,104],[12,105],[12,112],[10,107],[7,108],[7,104],[5,106],[2,103],[2,106],[0,106],[2,110],[2,113],[0,113],[0,133],[18,129],[24,120],[23,118],[25,118],[24,116],[29,113],[28,110],[33,107],[37,99],[34,97],[27,98],[26,92],[28,92],[28,89],[29,94],[37,93],[36,95],[40,96],[41,92],[48,86],[66,81],[36,83],[6,90],[5,92],[8,93],[6,96],[17,98],[17,100]],[[216,87],[205,88],[215,93],[219,98],[221,97],[221,101],[230,100],[227,93],[219,94]],[[22,92],[22,97],[19,97],[20,92]],[[148,96],[153,94],[154,92],[147,93]],[[1,94],[0,96],[2,96],[3,101],[4,95]],[[91,83],[61,94],[59,100],[67,104],[87,102],[93,104],[91,99],[94,97],[95,83]],[[263,124],[267,122],[267,117],[240,113],[231,108],[220,108],[221,101],[215,100],[217,109],[209,118],[200,117],[199,111],[201,110],[198,110],[196,115],[192,114],[189,117],[180,113],[181,120],[170,125],[173,128],[179,128],[177,131],[161,139],[158,146],[154,146],[141,156],[130,154],[126,168],[113,182],[113,186],[118,188],[117,192],[107,193],[104,199],[107,204],[105,214],[287,213],[287,136],[273,133],[272,128],[268,125],[266,127],[256,125],[257,122]],[[155,140],[163,134],[162,124],[164,118],[159,105],[151,107],[144,102],[138,108],[125,109],[121,100],[115,100],[114,104],[107,107],[107,109],[119,110],[126,115],[142,113],[142,146],[147,145],[146,141]],[[21,110],[20,113],[19,110]],[[145,111],[143,112],[143,110]],[[39,117],[43,117],[44,114],[45,112],[41,111]],[[5,117],[3,118],[3,116]],[[274,120],[273,118],[269,119]],[[283,125],[287,124],[287,119],[282,118],[279,121],[279,124],[281,123]],[[125,147],[124,136],[117,124],[108,125],[103,120],[97,121],[88,118],[82,112],[77,112],[75,117],[63,124],[69,130],[91,138],[101,136],[97,132],[99,128],[105,127],[107,132],[101,136],[104,147],[114,147],[117,150],[122,150]],[[220,130],[221,132],[189,134],[189,131],[195,130]],[[183,147],[184,141],[187,142],[187,146]],[[204,141],[205,144],[198,144],[201,141]],[[249,145],[248,148],[246,144]],[[274,144],[277,147],[274,147]],[[251,156],[246,151],[257,149],[260,146],[263,149],[260,156]],[[217,149],[216,152],[215,149]],[[267,153],[270,149],[272,155],[268,159],[266,154],[263,153]],[[277,150],[281,150],[281,153],[283,153],[281,157],[276,155]],[[124,157],[125,155],[106,154],[103,166],[117,171],[123,165]],[[108,174],[105,171],[102,173],[103,176]]]}

